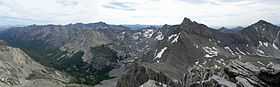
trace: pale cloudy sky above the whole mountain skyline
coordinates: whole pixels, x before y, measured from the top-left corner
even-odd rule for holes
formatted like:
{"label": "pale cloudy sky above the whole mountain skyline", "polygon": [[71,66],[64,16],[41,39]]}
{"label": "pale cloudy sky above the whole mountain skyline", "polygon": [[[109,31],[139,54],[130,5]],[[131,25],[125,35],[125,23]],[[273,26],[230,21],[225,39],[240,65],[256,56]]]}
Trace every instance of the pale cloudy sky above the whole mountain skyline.
{"label": "pale cloudy sky above the whole mountain skyline", "polygon": [[179,24],[184,17],[208,26],[280,24],[280,0],[0,0],[1,25]]}

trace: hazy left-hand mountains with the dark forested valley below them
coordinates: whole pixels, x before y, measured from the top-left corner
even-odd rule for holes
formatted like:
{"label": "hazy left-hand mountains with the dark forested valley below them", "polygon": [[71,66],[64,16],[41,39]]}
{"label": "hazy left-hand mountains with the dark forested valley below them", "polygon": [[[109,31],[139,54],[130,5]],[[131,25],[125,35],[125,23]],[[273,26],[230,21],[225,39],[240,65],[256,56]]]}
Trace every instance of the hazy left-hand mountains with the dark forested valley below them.
{"label": "hazy left-hand mountains with the dark forested valley below them", "polygon": [[[155,31],[104,22],[31,25],[2,31],[0,38],[41,64],[73,75],[78,83],[92,85],[111,78],[109,71],[120,62],[134,61],[147,52],[156,41],[151,38]],[[96,75],[102,77],[93,78]]]}

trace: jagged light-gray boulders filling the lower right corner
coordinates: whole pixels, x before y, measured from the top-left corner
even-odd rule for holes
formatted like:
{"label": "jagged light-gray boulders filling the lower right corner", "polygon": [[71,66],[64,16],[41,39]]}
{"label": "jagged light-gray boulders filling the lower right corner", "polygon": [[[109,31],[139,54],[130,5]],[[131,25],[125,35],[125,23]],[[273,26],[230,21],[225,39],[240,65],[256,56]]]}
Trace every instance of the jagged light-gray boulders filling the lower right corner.
{"label": "jagged light-gray boulders filling the lower right corner", "polygon": [[[269,65],[279,66],[279,64]],[[232,60],[228,65],[220,68],[194,66],[199,68],[190,68],[190,72],[186,75],[187,79],[183,80],[187,84],[184,87],[277,87],[279,86],[278,68],[271,68],[271,66],[255,66],[238,60]],[[205,71],[197,72],[203,69]],[[269,76],[267,73],[270,73]],[[200,79],[202,77],[203,79]]]}

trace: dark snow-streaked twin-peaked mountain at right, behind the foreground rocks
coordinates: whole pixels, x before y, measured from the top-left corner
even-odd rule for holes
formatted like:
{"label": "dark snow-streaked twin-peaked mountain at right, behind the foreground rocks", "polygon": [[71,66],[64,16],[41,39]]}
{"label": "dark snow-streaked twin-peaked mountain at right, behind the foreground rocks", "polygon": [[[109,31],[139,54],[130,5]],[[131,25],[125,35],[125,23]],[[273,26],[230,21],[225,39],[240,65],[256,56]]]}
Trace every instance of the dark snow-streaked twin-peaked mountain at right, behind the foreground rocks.
{"label": "dark snow-streaked twin-peaked mountain at right, behind the foreground rocks", "polygon": [[156,63],[153,68],[180,79],[186,67],[197,60],[246,56],[278,58],[278,31],[279,27],[259,21],[238,32],[225,33],[185,18],[179,25],[163,26],[158,32],[164,39],[145,57]]}

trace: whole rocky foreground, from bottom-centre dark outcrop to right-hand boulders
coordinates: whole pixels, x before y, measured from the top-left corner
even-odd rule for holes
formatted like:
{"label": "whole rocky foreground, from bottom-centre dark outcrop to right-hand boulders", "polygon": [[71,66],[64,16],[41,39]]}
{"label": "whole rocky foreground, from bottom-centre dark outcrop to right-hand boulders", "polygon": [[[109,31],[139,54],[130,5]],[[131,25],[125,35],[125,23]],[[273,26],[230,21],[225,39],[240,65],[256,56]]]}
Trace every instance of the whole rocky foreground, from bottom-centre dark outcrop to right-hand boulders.
{"label": "whole rocky foreground, from bottom-centre dark outcrop to right-hand boulders", "polygon": [[196,64],[185,73],[184,79],[172,80],[161,72],[141,65],[132,65],[118,82],[118,87],[278,87],[280,65],[272,62],[241,62],[232,60],[225,66]]}

